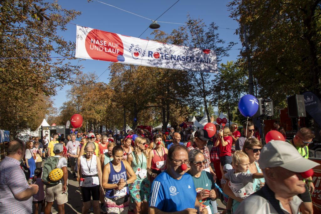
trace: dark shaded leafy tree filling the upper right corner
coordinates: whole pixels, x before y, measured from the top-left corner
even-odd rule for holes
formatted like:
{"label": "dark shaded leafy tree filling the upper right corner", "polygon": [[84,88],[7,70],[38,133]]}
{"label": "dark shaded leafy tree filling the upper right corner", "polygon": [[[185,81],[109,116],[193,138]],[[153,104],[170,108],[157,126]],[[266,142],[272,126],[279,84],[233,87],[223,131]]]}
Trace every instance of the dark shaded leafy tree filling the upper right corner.
{"label": "dark shaded leafy tree filling the upper right corner", "polygon": [[[287,96],[306,90],[321,98],[321,1],[234,0],[231,17],[244,42],[247,26],[258,94],[279,108]],[[241,56],[247,64],[246,52]]]}

